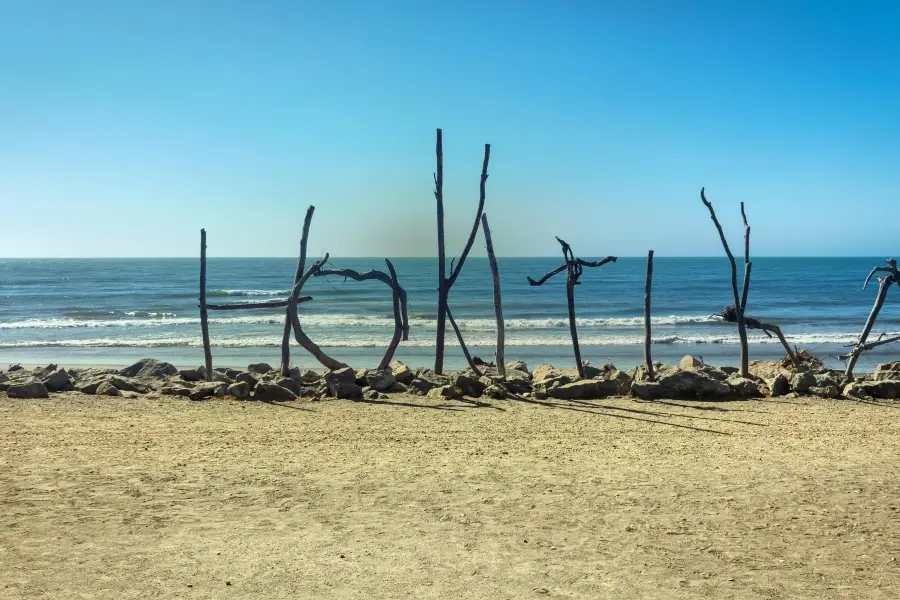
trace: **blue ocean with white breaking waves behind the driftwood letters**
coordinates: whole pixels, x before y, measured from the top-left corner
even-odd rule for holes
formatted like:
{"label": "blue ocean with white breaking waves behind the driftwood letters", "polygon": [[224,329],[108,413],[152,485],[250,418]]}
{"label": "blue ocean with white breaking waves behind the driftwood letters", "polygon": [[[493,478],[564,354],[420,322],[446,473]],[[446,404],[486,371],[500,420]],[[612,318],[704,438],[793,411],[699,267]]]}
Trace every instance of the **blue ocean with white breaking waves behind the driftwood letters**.
{"label": "blue ocean with white breaking waves behind the driftwood letters", "polygon": [[[310,257],[311,264],[315,257]],[[410,335],[396,358],[413,366],[434,360],[437,261],[394,259],[409,294]],[[539,278],[561,258],[501,258],[506,358],[530,366],[574,364],[566,312],[565,274],[541,287]],[[877,283],[862,289],[883,258],[755,258],[748,314],[779,325],[788,341],[839,367],[863,327]],[[333,268],[386,270],[372,258],[333,258]],[[211,258],[209,301],[277,299],[290,288],[294,258]],[[586,268],[576,288],[582,356],[591,364],[630,368],[642,362],[645,258],[620,258]],[[179,366],[203,362],[197,308],[199,260],[0,259],[0,363],[123,365],[153,356]],[[354,366],[378,363],[393,333],[390,291],[381,282],[314,278],[304,288],[304,330],[333,357]],[[486,258],[469,258],[450,306],[472,353],[493,359],[496,339]],[[731,303],[726,258],[657,257],[653,280],[653,358],[685,354],[713,364],[736,364],[734,325],[710,319]],[[216,366],[280,360],[283,309],[211,312]],[[445,367],[464,358],[448,324]],[[900,334],[900,289],[891,290],[872,338]],[[780,358],[776,339],[750,333],[750,358]],[[857,372],[897,359],[900,345],[863,355]],[[294,346],[295,365],[318,367]]]}

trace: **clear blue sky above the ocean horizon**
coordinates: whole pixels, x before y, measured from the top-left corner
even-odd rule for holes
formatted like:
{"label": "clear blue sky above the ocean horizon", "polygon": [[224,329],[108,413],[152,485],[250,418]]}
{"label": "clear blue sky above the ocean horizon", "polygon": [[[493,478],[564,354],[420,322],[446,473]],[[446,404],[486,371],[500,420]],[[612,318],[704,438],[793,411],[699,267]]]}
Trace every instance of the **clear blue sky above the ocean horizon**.
{"label": "clear blue sky above the ocean horizon", "polygon": [[[0,256],[900,253],[898,2],[0,0]],[[479,237],[476,249],[483,253]]]}

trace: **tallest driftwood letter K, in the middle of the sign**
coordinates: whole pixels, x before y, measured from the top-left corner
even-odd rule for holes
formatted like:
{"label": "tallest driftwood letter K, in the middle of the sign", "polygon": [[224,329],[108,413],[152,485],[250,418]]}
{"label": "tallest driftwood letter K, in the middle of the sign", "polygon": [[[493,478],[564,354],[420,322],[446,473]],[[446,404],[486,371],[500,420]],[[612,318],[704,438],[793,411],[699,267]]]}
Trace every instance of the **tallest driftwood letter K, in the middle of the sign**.
{"label": "tallest driftwood letter K, in the middle of the sign", "polygon": [[478,200],[478,210],[475,213],[475,222],[472,225],[472,231],[469,234],[466,246],[463,249],[462,254],[459,255],[459,262],[456,263],[456,268],[454,269],[453,263],[450,263],[449,276],[447,276],[447,254],[444,246],[444,148],[443,133],[440,129],[437,130],[435,153],[437,155],[437,171],[434,174],[434,198],[437,201],[438,224],[438,312],[437,333],[435,336],[434,372],[443,373],[444,371],[444,337],[447,329],[447,319],[449,318],[454,331],[456,331],[456,337],[459,338],[459,345],[466,355],[466,360],[469,361],[469,366],[477,373],[478,368],[472,361],[465,342],[463,341],[462,334],[459,331],[459,327],[455,325],[455,321],[450,314],[449,296],[450,288],[456,283],[456,279],[459,277],[460,271],[462,271],[463,264],[465,264],[466,258],[469,256],[469,251],[475,243],[475,236],[478,235],[478,227],[481,224],[481,214],[484,212],[485,184],[487,183],[488,177],[488,162],[491,158],[491,145],[484,145],[484,162],[481,165],[481,193]]}

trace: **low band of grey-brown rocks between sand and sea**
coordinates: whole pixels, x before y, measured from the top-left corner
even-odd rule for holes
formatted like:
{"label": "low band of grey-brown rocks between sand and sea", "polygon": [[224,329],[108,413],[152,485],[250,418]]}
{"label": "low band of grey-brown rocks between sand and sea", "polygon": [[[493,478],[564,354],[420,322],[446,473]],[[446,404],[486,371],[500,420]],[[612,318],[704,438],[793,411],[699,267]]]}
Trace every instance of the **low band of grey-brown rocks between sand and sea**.
{"label": "low band of grey-brown rocks between sand and sea", "polygon": [[843,382],[843,373],[826,369],[815,360],[801,368],[776,361],[751,361],[750,377],[733,367],[714,367],[685,356],[677,367],[657,363],[655,376],[644,367],[620,371],[611,364],[586,366],[585,379],[575,369],[539,365],[529,370],[523,362],[506,366],[506,378],[493,365],[438,375],[430,369],[412,370],[394,361],[389,369],[345,368],[328,373],[291,369],[288,375],[265,363],[247,369],[215,369],[206,381],[203,367],[177,369],[146,358],[124,369],[71,368],[56,365],[34,370],[18,365],[0,371],[0,392],[10,398],[47,398],[54,392],[75,391],[98,396],[145,394],[184,396],[191,400],[232,397],[238,400],[284,402],[300,398],[323,400],[348,398],[386,399],[391,394],[414,394],[436,398],[593,400],[610,396],[632,396],[653,400],[740,400],[814,395],[826,398],[900,399],[900,362],[879,365],[872,374]]}

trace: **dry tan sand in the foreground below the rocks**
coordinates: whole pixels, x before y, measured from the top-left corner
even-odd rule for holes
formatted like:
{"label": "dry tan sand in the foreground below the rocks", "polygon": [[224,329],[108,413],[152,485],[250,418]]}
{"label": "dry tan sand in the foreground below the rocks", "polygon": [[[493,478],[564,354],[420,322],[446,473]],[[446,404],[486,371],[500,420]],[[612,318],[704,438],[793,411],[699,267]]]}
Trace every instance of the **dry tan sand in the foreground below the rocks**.
{"label": "dry tan sand in the foreground below the rocks", "polygon": [[0,395],[0,597],[898,598],[898,406]]}

